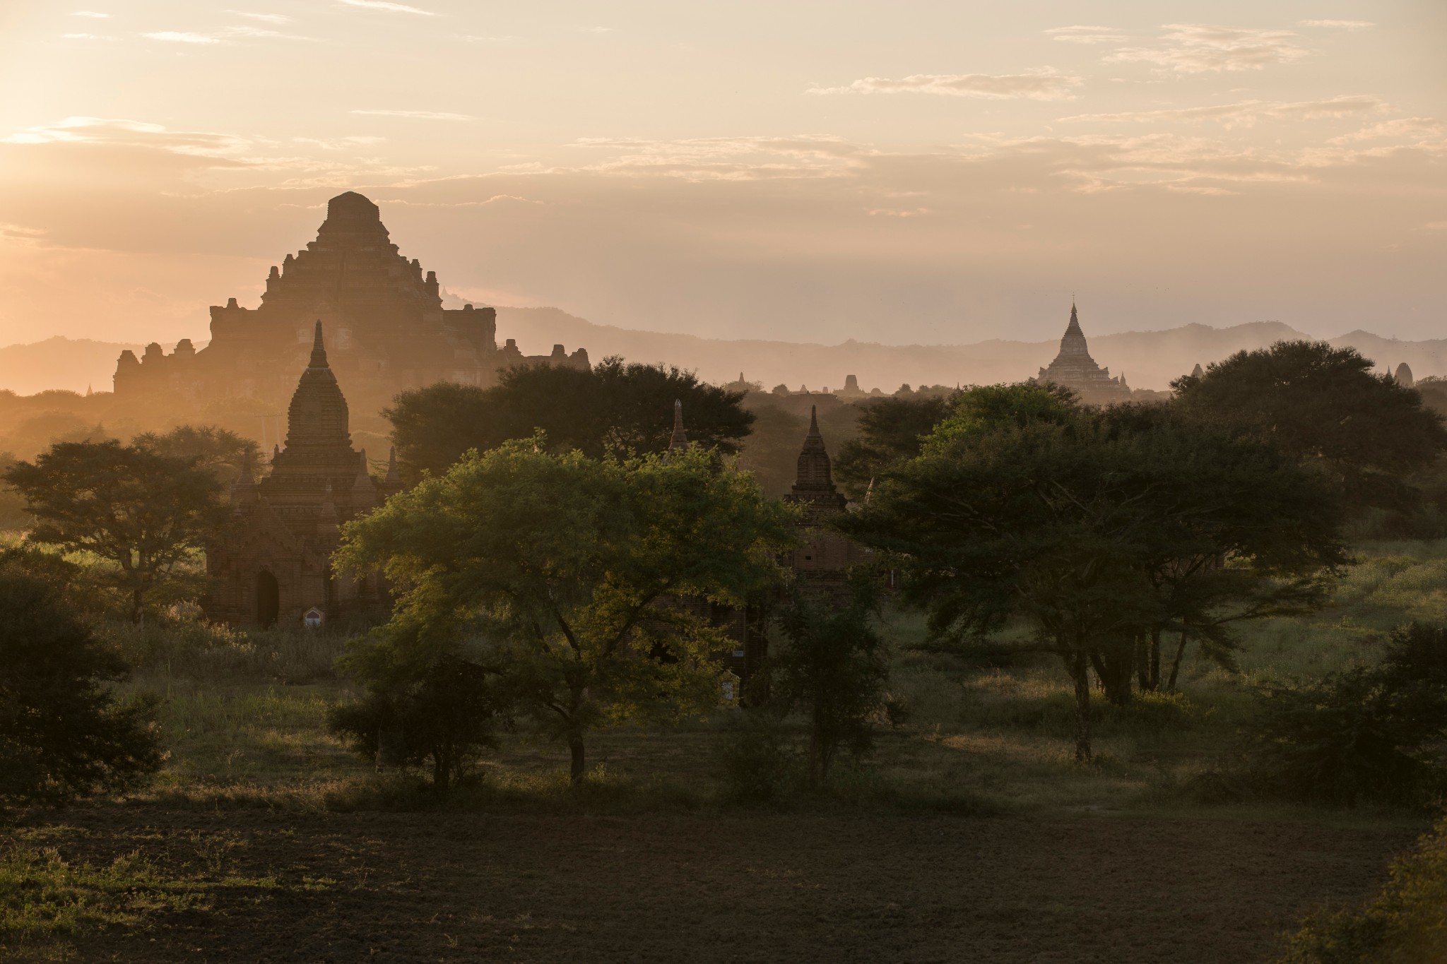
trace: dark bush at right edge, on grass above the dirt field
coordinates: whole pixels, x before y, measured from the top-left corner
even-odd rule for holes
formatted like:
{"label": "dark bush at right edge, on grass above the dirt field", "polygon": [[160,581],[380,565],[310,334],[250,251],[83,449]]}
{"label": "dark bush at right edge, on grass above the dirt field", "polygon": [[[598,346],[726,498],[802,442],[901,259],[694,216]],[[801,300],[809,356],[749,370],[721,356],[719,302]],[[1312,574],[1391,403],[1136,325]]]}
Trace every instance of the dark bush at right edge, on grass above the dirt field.
{"label": "dark bush at right edge, on grass above the dirt field", "polygon": [[1262,687],[1247,779],[1289,799],[1421,805],[1447,789],[1447,630],[1392,633],[1376,666]]}

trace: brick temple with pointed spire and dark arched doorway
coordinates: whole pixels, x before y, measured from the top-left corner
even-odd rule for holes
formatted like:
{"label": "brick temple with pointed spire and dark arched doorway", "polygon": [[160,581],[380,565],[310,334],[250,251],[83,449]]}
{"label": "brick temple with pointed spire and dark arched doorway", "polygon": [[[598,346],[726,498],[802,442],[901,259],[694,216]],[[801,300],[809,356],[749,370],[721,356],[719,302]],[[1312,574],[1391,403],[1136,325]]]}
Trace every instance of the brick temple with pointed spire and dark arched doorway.
{"label": "brick temple with pointed spire and dark arched doorway", "polygon": [[386,477],[373,480],[366,452],[352,448],[347,400],[327,364],[321,322],[313,330],[311,357],[291,396],[287,448],[258,481],[250,458],[232,486],[233,525],[207,546],[207,574],[216,581],[207,616],[232,626],[301,626],[307,610],[326,619],[385,617],[386,587],[379,575],[341,577],[331,571],[339,526],[401,491],[395,455]]}

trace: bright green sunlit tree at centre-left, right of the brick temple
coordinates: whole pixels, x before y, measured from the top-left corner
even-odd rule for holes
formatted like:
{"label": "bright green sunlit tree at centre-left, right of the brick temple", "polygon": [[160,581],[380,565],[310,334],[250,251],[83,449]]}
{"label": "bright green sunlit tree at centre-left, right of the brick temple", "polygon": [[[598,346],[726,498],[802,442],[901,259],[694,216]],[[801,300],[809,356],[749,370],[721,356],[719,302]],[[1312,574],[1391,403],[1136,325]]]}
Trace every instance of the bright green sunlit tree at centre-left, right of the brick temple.
{"label": "bright green sunlit tree at centre-left, right of the brick temple", "polygon": [[392,646],[473,646],[519,707],[567,741],[713,705],[731,649],[686,600],[742,606],[781,575],[789,510],[690,448],[590,460],[540,438],[469,452],[349,523],[339,568],[396,587]]}

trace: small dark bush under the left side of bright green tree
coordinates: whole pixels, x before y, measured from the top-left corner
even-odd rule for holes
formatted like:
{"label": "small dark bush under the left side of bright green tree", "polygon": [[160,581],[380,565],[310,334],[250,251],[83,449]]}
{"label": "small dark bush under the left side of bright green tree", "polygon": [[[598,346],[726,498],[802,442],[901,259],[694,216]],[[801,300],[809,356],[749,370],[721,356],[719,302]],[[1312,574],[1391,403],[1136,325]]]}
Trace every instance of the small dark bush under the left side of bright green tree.
{"label": "small dark bush under the left side of bright green tree", "polygon": [[438,796],[462,779],[476,754],[496,746],[506,710],[496,676],[485,666],[443,656],[407,684],[378,684],[368,695],[333,708],[328,726],[362,756],[383,765],[430,763]]}

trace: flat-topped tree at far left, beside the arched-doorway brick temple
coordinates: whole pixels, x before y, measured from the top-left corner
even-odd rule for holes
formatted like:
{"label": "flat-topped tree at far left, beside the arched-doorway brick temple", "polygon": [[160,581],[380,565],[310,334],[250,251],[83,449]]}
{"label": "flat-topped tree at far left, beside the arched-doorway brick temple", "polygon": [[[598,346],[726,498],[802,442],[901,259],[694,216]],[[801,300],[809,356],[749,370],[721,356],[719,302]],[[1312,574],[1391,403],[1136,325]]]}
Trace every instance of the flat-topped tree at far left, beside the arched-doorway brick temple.
{"label": "flat-topped tree at far left, beside the arched-doorway brick temple", "polygon": [[192,460],[113,439],[56,444],[35,462],[16,462],[4,480],[35,516],[27,541],[116,565],[113,581],[130,595],[135,623],[146,595],[229,517],[220,483]]}

